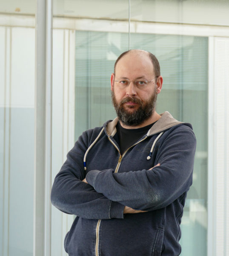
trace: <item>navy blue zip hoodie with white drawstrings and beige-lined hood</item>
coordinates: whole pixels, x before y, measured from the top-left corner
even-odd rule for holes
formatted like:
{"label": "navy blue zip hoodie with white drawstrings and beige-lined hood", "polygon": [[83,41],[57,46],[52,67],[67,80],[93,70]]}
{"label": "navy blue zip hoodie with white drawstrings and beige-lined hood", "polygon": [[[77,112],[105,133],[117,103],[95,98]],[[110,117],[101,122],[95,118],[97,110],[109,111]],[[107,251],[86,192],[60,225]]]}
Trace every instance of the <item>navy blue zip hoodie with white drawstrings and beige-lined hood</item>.
{"label": "navy blue zip hoodie with white drawstrings and beige-lined hood", "polygon": [[[192,126],[165,112],[120,155],[116,124],[117,118],[85,131],[55,177],[52,204],[77,215],[65,250],[70,256],[180,255],[196,148]],[[123,214],[125,206],[147,212]]]}

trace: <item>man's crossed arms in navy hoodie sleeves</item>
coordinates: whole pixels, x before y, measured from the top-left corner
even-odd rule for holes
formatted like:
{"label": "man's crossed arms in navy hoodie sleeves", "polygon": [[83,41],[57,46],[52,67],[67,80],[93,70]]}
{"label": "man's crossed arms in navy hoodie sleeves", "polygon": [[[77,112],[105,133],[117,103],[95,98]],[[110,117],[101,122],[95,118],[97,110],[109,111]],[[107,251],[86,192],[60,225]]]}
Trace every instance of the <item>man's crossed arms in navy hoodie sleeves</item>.
{"label": "man's crossed arms in navy hoodie sleeves", "polygon": [[[182,138],[189,141],[188,146]],[[171,204],[192,183],[195,136],[180,130],[166,140],[158,153],[160,165],[122,173],[92,170],[85,177],[82,156],[88,138],[80,137],[54,180],[52,204],[63,212],[91,219],[123,218],[123,213],[152,211]]]}

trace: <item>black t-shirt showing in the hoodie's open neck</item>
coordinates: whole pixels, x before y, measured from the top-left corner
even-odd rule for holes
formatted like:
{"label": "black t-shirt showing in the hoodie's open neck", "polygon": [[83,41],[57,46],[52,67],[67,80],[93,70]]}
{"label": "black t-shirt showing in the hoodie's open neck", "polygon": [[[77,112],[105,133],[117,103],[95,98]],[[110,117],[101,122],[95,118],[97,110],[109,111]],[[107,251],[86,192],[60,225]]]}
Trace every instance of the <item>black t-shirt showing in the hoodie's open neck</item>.
{"label": "black t-shirt showing in the hoodie's open neck", "polygon": [[134,145],[138,140],[140,140],[154,124],[155,122],[137,129],[126,129],[120,125],[120,122],[118,122],[116,125],[116,129],[119,139],[118,143],[120,146],[120,153],[123,154],[126,149]]}

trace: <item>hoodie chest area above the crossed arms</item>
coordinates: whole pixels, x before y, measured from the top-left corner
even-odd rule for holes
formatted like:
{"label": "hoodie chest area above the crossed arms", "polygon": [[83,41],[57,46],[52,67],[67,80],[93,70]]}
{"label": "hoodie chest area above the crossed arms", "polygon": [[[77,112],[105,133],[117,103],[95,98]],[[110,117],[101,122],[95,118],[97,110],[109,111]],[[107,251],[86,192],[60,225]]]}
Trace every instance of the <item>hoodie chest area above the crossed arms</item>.
{"label": "hoodie chest area above the crossed arms", "polygon": [[153,150],[150,160],[147,160],[152,144],[156,136],[149,137],[131,146],[123,155],[120,156],[119,145],[112,143],[107,138],[98,141],[87,155],[87,170],[113,169],[114,172],[130,172],[142,169],[150,169],[155,166],[157,151],[160,148],[158,141]]}

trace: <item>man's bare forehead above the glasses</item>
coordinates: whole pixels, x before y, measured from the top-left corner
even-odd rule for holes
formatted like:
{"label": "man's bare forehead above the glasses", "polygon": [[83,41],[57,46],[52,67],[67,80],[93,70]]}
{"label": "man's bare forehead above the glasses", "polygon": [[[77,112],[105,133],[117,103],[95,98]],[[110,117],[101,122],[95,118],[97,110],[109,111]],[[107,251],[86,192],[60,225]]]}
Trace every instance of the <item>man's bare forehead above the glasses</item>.
{"label": "man's bare forehead above the glasses", "polygon": [[123,77],[152,76],[154,67],[147,52],[133,51],[124,55],[117,62],[115,75]]}

